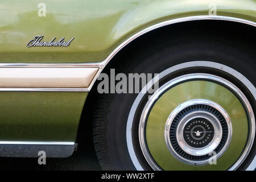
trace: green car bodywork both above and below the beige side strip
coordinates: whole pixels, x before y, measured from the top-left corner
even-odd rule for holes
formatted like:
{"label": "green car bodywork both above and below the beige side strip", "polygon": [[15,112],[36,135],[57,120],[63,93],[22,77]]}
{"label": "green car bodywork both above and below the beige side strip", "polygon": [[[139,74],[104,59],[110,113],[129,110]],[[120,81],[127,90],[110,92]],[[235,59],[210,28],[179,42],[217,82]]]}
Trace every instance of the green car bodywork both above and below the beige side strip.
{"label": "green car bodywork both above and below the beige side strip", "polygon": [[[46,5],[46,16],[38,15],[40,2]],[[217,16],[248,22],[256,22],[255,2],[214,1]],[[138,32],[168,20],[208,16],[210,3],[211,0],[2,0],[0,63],[105,63],[110,55],[109,60],[113,57],[113,51],[118,46]],[[68,47],[27,47],[27,43],[36,35],[43,35],[44,41],[55,37],[58,40],[75,39]],[[86,122],[80,121],[80,118],[89,90],[2,91],[0,140],[76,142],[79,123]]]}

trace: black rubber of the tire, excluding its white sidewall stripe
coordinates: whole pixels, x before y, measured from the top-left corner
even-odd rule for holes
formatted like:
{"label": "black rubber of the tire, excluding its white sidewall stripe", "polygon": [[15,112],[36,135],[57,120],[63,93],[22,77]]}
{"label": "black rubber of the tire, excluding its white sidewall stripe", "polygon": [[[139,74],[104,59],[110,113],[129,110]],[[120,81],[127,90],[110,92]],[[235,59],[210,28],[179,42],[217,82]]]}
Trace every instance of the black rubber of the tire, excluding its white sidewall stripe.
{"label": "black rubber of the tire, excluding its white sidewall stripe", "polygon": [[[115,57],[115,63],[122,61],[122,65],[109,65],[104,72],[109,74],[109,69],[115,68],[116,73],[160,73],[167,68],[188,61],[213,61],[235,69],[250,80],[254,86],[256,85],[254,45],[246,43],[246,40],[237,35],[223,32],[220,34],[212,30],[199,32],[195,28],[179,33],[157,34],[150,41],[146,37],[141,39],[146,41],[143,43],[143,47],[130,47],[127,52],[123,51],[122,55]],[[127,53],[129,56],[125,56]],[[195,67],[171,73],[168,75],[168,80],[193,72],[217,74],[233,82],[245,93],[254,113],[256,113],[255,100],[250,90],[240,80],[227,73],[210,68]],[[164,80],[160,81],[160,85],[163,83]],[[126,124],[137,94],[98,94],[97,84],[90,94],[96,100],[93,113],[93,139],[102,169],[134,170],[135,167],[126,144]],[[144,102],[141,103],[141,109],[143,105]],[[134,135],[137,134],[134,131]],[[144,169],[151,169],[144,159],[138,141],[135,143],[137,146],[134,148],[137,151],[139,162]],[[249,166],[254,156],[255,142],[249,156],[239,169]]]}

